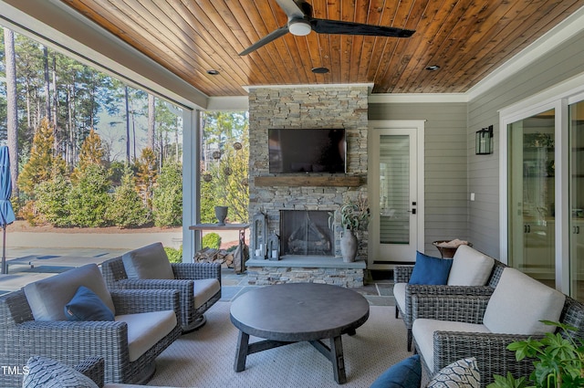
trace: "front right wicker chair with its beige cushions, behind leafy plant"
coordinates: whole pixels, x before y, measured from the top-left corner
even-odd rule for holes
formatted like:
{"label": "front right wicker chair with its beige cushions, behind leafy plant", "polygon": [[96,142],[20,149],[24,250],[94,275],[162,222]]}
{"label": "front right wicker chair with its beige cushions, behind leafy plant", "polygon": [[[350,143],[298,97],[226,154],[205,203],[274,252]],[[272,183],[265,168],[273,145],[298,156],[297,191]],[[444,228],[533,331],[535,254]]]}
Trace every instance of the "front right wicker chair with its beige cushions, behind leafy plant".
{"label": "front right wicker chair with its beige cushions, behind leafy plant", "polygon": [[584,304],[509,267],[491,295],[412,295],[412,320],[415,351],[430,375],[475,357],[482,386],[492,383],[494,374],[519,377],[533,371],[532,360],[517,362],[506,346],[556,330],[540,320],[570,325],[576,328],[571,335],[584,338]]}

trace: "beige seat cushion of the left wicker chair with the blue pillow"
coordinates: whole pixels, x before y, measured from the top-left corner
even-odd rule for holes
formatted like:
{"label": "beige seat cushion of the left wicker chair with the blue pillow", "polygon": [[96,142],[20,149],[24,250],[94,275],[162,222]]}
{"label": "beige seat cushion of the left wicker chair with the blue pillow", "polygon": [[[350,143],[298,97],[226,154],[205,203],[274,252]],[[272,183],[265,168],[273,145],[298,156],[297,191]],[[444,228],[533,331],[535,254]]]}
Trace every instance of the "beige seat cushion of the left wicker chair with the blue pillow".
{"label": "beige seat cushion of the left wicker chair with the blue pillow", "polygon": [[116,316],[116,321],[128,323],[130,362],[161,341],[177,324],[174,310],[142,312]]}

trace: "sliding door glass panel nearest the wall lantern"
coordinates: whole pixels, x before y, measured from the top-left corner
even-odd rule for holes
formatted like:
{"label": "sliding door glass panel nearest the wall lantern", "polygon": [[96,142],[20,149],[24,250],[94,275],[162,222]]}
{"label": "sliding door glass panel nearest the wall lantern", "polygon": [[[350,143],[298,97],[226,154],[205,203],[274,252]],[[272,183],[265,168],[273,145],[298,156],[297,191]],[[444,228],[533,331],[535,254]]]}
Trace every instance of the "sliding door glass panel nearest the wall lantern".
{"label": "sliding door glass panel nearest the wall lantern", "polygon": [[508,262],[555,287],[555,112],[508,127]]}

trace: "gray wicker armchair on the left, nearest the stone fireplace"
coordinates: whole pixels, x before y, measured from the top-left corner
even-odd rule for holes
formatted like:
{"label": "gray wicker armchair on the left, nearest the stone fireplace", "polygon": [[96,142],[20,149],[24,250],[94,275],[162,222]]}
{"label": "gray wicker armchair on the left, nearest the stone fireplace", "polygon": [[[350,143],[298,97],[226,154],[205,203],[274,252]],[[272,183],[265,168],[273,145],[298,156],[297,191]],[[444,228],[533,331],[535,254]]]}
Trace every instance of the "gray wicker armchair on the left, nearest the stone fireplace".
{"label": "gray wicker armchair on the left, nearest the stone fireplace", "polygon": [[[160,257],[168,261],[161,243],[143,246],[124,257],[141,252],[142,256]],[[170,263],[172,279],[130,278],[123,257],[112,258],[101,265],[110,289],[177,289],[181,296],[183,333],[204,324],[203,313],[221,299],[221,265],[218,263]],[[218,285],[218,287],[217,287]]]}

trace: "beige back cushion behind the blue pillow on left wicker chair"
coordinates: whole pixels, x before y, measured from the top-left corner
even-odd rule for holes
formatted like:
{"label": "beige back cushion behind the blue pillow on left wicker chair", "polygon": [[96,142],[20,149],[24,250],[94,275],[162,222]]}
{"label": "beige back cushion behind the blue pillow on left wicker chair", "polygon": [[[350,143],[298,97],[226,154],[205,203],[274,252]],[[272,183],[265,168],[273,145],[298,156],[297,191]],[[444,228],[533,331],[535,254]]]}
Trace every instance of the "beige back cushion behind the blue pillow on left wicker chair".
{"label": "beige back cushion behind the blue pillow on left wicker chair", "polygon": [[29,283],[24,287],[26,300],[35,320],[67,320],[65,305],[73,298],[79,286],[91,289],[115,314],[110,291],[99,267],[88,264]]}

